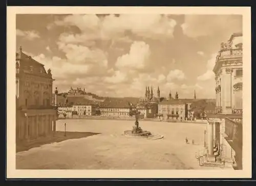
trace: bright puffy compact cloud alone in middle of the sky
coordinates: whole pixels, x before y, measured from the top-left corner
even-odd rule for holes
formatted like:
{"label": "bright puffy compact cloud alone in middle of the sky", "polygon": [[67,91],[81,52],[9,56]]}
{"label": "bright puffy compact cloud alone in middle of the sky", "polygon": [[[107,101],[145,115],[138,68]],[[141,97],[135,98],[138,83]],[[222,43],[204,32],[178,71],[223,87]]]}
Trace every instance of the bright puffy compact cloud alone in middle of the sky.
{"label": "bright puffy compact cloud alone in middle of the sky", "polygon": [[143,69],[150,57],[150,46],[143,41],[134,41],[129,54],[118,57],[116,67],[119,69]]}

